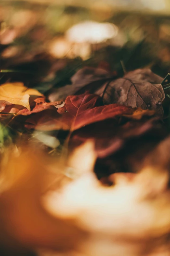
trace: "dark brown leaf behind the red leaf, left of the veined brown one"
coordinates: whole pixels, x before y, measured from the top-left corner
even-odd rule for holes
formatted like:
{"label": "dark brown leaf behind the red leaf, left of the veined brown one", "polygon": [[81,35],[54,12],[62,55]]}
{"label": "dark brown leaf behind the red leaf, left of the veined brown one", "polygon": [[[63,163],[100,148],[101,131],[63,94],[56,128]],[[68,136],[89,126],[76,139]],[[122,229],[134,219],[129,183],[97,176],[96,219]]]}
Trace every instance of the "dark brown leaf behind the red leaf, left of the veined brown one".
{"label": "dark brown leaf behind the red leaf, left of the veined brown one", "polygon": [[[80,90],[87,85],[89,85],[88,88],[84,88],[83,91],[95,93],[95,91],[97,91],[101,86],[103,87],[105,81],[110,77],[109,72],[102,68],[84,67],[78,70],[78,72],[71,78],[71,85],[52,89],[48,98],[51,102],[53,102],[56,100],[65,99],[68,95],[81,94]],[[94,84],[96,81],[98,82]],[[99,81],[101,81],[101,83]],[[102,89],[102,92],[103,90],[104,88]],[[79,91],[80,93],[78,93]]]}

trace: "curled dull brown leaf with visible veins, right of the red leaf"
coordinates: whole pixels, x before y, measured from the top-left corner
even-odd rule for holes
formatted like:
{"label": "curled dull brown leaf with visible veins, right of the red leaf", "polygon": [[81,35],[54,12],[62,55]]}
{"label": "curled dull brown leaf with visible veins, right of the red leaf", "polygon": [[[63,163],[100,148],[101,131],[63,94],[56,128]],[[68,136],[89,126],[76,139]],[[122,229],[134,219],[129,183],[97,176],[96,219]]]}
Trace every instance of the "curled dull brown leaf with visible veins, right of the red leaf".
{"label": "curled dull brown leaf with visible veins, right of the red leaf", "polygon": [[104,104],[117,103],[133,108],[150,109],[163,114],[165,98],[161,85],[163,78],[149,69],[137,69],[108,84],[103,95]]}

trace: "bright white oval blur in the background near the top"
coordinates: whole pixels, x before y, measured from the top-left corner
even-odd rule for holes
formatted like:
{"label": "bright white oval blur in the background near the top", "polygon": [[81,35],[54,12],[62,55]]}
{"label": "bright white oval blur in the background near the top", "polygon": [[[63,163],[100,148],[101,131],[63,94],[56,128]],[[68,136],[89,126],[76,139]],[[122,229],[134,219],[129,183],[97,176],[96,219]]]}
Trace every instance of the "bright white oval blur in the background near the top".
{"label": "bright white oval blur in the background near the top", "polygon": [[114,24],[86,21],[71,27],[66,32],[66,38],[75,43],[101,43],[117,33],[118,27]]}

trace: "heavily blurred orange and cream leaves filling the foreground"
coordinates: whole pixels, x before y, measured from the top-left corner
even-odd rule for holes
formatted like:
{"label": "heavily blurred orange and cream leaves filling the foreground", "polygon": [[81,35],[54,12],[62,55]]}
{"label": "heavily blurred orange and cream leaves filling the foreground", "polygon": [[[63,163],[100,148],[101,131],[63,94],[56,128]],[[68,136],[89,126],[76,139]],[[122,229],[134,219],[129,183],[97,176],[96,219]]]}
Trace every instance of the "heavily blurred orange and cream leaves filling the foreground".
{"label": "heavily blurred orange and cream leaves filling the foreground", "polygon": [[58,162],[37,151],[35,157],[35,148],[8,149],[1,161],[1,243],[21,255],[26,248],[39,255],[169,255],[169,143],[158,145],[138,174],[112,175],[111,187],[90,171],[92,142],[69,159],[80,176],[73,181]]}

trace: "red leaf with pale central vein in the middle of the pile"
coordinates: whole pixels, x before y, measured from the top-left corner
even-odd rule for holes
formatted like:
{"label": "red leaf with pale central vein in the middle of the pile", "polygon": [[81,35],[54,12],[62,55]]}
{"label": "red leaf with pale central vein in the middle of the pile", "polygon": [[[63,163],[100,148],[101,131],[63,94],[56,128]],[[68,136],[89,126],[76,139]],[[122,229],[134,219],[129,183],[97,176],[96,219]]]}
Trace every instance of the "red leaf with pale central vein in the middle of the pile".
{"label": "red leaf with pale central vein in the middle of the pile", "polygon": [[[64,129],[71,131],[79,129],[92,123],[100,122],[106,119],[118,118],[120,116],[126,119],[139,120],[144,116],[153,116],[155,111],[142,110],[141,108],[132,109],[118,104],[110,104],[105,106],[97,106],[100,97],[94,94],[82,94],[68,96],[65,105],[61,108],[58,105],[58,113],[60,115],[45,115],[40,119],[31,121],[29,119],[30,128],[38,130],[58,130]],[[59,103],[59,102],[57,102]],[[25,110],[27,111],[27,110]],[[21,113],[23,111],[20,111]],[[31,111],[33,113],[33,111]]]}

